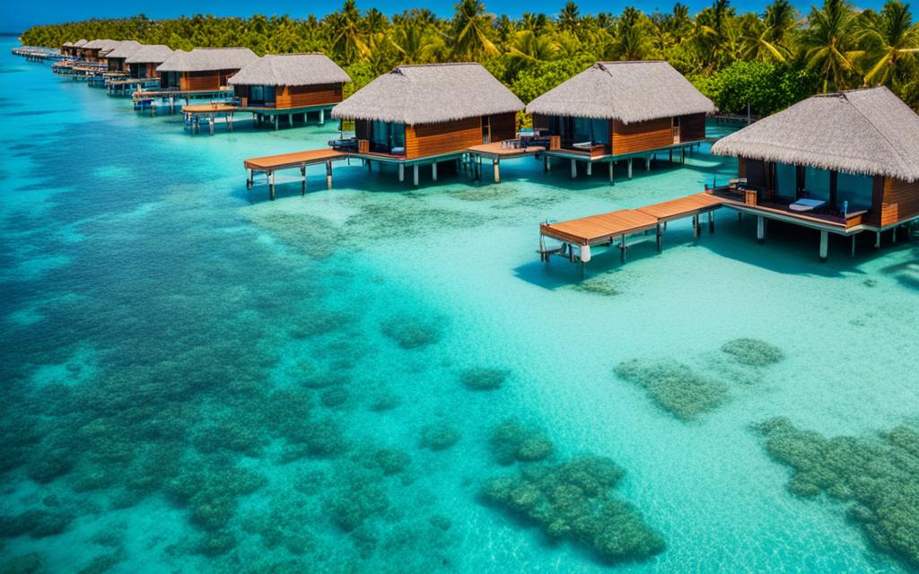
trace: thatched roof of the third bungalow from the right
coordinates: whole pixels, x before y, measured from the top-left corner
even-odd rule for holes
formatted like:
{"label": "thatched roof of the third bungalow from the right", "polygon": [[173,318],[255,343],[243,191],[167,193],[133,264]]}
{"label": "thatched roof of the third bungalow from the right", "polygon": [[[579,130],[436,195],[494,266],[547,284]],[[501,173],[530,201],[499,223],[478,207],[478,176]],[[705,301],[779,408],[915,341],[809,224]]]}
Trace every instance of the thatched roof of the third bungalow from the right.
{"label": "thatched roof of the third bungalow from the right", "polygon": [[516,112],[523,102],[478,63],[399,66],[332,109],[333,118],[429,124]]}

